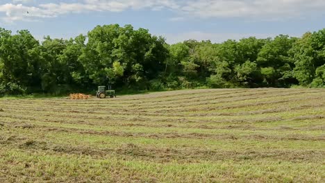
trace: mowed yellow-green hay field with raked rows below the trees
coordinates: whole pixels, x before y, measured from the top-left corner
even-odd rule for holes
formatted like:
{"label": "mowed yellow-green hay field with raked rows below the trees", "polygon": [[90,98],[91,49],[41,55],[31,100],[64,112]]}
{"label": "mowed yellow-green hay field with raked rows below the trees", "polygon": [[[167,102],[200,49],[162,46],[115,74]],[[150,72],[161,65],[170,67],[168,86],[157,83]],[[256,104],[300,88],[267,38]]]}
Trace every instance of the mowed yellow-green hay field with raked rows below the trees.
{"label": "mowed yellow-green hay field with raked rows below the trees", "polygon": [[0,182],[325,182],[325,89],[2,98]]}

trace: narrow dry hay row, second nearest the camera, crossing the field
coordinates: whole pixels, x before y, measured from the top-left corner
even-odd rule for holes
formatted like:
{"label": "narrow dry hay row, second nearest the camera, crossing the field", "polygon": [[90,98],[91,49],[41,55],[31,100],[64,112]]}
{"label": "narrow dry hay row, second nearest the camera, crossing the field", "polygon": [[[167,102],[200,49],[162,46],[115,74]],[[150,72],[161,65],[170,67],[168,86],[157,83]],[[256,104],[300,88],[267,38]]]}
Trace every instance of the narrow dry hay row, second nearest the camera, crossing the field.
{"label": "narrow dry hay row, second nearest the camera, crossing the field", "polygon": [[[316,136],[316,135],[307,135],[307,134],[264,134],[260,132],[257,134],[229,134],[228,132],[222,132],[220,134],[215,134],[214,132],[210,133],[199,133],[199,132],[129,132],[128,130],[119,131],[113,130],[90,130],[90,129],[80,129],[80,128],[65,128],[65,127],[52,127],[49,125],[31,125],[31,124],[11,124],[8,127],[13,128],[23,128],[28,130],[37,130],[38,132],[67,132],[69,134],[90,134],[90,135],[99,135],[99,136],[111,136],[111,137],[144,137],[150,139],[234,139],[234,140],[260,140],[260,141],[325,141],[325,134]],[[163,129],[161,129],[163,130]]]}

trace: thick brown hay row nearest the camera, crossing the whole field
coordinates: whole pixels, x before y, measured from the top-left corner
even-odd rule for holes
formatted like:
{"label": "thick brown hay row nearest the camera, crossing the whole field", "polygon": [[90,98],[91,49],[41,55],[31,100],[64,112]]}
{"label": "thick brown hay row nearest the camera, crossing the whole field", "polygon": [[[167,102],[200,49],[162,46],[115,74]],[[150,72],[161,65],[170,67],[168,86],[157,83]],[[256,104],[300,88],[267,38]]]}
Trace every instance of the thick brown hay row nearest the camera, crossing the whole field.
{"label": "thick brown hay row nearest the camera, crossing the whole field", "polygon": [[124,143],[113,148],[95,148],[90,146],[63,145],[49,141],[28,138],[10,137],[1,143],[10,149],[38,150],[40,153],[64,153],[70,155],[89,155],[92,157],[132,157],[149,162],[215,161],[222,159],[274,159],[292,162],[319,162],[323,161],[324,150],[213,150],[200,148],[158,148],[140,146],[133,143]]}

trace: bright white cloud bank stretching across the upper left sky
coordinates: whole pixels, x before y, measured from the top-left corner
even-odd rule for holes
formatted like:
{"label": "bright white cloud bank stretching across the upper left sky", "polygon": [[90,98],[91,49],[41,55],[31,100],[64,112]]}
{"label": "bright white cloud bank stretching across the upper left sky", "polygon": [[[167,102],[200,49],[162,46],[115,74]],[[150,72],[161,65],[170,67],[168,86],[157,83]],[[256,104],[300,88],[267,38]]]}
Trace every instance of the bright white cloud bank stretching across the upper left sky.
{"label": "bright white cloud bank stretching across the upper left sky", "polygon": [[[140,10],[150,8],[160,10],[163,8],[178,8],[174,0],[83,0],[78,2],[40,3],[34,6],[26,6],[23,3],[31,3],[33,0],[13,0],[12,3],[1,4],[1,17],[6,21],[31,20],[35,18],[57,17],[69,13],[81,13],[89,11],[121,12],[127,9]],[[33,1],[35,4],[35,1]],[[1,14],[0,14],[1,15]]]}

